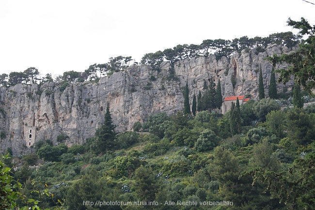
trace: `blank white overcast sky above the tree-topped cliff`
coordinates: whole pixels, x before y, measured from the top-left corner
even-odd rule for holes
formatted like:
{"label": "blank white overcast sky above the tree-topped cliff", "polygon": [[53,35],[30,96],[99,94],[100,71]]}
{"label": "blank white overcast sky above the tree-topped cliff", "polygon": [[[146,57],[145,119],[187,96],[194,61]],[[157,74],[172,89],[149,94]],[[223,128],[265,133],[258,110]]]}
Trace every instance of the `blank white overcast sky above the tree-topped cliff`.
{"label": "blank white overcast sky above the tree-topped cliff", "polygon": [[[315,3],[315,0],[308,0]],[[0,0],[0,74],[36,67],[42,75],[84,71],[205,39],[292,31],[315,24],[303,0]],[[296,32],[296,31],[294,31]]]}

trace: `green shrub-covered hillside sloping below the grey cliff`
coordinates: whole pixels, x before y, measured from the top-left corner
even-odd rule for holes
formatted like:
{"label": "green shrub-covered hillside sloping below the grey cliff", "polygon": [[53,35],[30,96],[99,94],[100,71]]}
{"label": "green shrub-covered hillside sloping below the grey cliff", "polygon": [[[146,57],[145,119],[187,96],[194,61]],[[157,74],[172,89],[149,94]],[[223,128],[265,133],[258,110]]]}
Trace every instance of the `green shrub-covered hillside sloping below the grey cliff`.
{"label": "green shrub-covered hillside sloping below the grey cliff", "polygon": [[[45,208],[63,199],[63,208],[69,210],[314,208],[315,107],[281,111],[275,100],[263,99],[236,109],[236,123],[230,120],[231,111],[224,115],[202,111],[195,117],[158,113],[135,125],[143,132],[117,134],[108,151],[101,152],[94,148],[102,144],[97,136],[111,130],[103,132],[109,125],[105,120],[86,145],[37,143],[37,154],[17,161],[23,165],[13,177],[23,183],[23,195],[40,200]],[[5,162],[12,166],[16,159]],[[29,167],[36,162],[41,164]],[[54,194],[52,199],[34,193],[45,190]],[[18,199],[17,204],[27,205],[25,201]],[[83,201],[158,205],[91,207]],[[165,201],[198,205],[165,206]],[[204,201],[233,206],[200,205]]]}

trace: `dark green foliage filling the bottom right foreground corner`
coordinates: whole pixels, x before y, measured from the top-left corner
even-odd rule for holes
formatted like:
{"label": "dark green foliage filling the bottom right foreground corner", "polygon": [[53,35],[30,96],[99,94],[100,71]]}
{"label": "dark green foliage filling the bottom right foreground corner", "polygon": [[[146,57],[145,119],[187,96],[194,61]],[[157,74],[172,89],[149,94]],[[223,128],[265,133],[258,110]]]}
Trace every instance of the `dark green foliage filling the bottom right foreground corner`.
{"label": "dark green foliage filling the bottom right foreground corner", "polygon": [[[314,144],[313,144],[314,148]],[[265,183],[271,198],[279,198],[287,209],[315,208],[315,155],[314,150],[302,158],[297,158],[289,170],[276,171],[256,168],[248,172],[252,175],[253,183]]]}

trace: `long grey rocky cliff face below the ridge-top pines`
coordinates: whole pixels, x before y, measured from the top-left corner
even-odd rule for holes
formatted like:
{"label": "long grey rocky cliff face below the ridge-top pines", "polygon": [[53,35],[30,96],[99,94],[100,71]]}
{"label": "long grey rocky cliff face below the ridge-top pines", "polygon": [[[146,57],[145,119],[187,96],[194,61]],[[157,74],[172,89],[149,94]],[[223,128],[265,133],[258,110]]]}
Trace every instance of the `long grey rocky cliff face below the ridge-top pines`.
{"label": "long grey rocky cliff face below the ridge-top pines", "polygon": [[[166,62],[160,65],[160,71],[147,65],[133,65],[126,71],[101,78],[98,83],[73,83],[63,92],[54,82],[41,86],[17,84],[10,88],[2,87],[0,131],[6,137],[0,140],[0,152],[9,147],[14,155],[30,152],[30,128],[35,128],[31,133],[34,142],[50,139],[57,144],[58,135],[68,135],[67,145],[85,143],[102,124],[107,102],[119,132],[132,130],[136,121],[143,123],[154,113],[175,114],[183,110],[186,81],[190,104],[193,94],[197,95],[199,90],[203,93],[211,78],[215,83],[221,80],[223,98],[251,94],[256,99],[261,66],[268,96],[272,66],[264,59],[274,53],[287,52],[288,48],[270,45],[265,52],[243,50],[241,54],[219,60],[214,55],[185,59],[174,65],[173,72]],[[236,79],[234,87],[232,75]],[[292,83],[287,84],[287,87],[291,86]],[[286,89],[282,84],[277,88],[278,92]]]}

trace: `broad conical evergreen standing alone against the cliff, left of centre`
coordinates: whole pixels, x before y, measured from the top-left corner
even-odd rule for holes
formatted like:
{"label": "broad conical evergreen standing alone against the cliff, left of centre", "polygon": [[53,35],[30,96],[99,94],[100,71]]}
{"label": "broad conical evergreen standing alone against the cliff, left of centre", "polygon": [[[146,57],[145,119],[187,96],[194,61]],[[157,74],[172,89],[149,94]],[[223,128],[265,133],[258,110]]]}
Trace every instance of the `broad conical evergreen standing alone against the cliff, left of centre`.
{"label": "broad conical evergreen standing alone against the cliff, left of centre", "polygon": [[92,140],[91,149],[96,154],[101,152],[108,152],[109,149],[114,147],[114,139],[116,125],[113,125],[110,114],[110,104],[107,102],[106,113],[104,116],[103,124],[96,129],[94,140]]}

